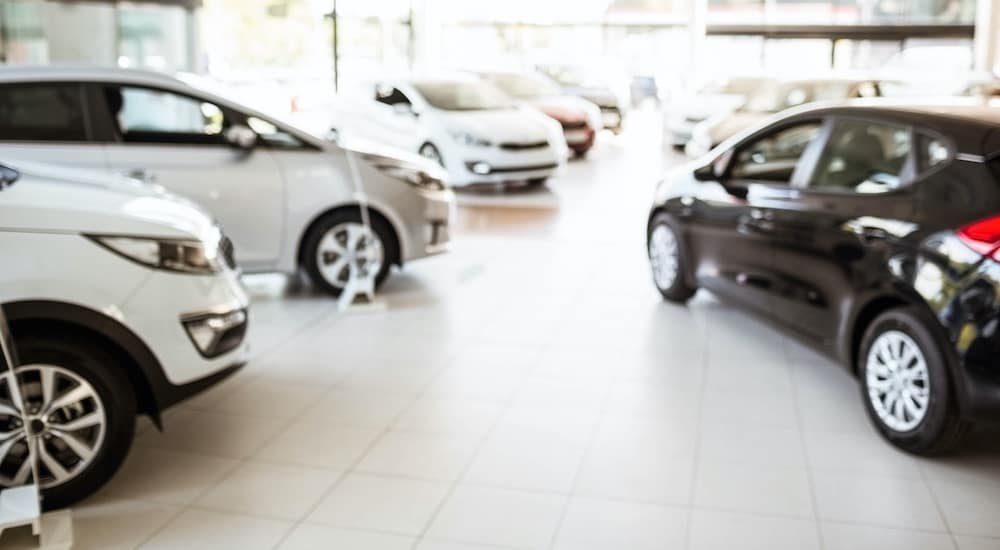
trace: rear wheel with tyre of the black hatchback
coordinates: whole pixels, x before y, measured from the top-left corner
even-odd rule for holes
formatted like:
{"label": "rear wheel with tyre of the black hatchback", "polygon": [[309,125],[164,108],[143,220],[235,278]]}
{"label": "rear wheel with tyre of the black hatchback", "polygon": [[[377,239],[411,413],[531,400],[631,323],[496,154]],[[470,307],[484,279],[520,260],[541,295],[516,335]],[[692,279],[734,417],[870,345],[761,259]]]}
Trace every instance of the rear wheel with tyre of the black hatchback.
{"label": "rear wheel with tyre of the black hatchback", "polygon": [[858,354],[861,396],[875,428],[894,446],[925,456],[955,448],[972,427],[959,414],[927,317],[914,307],[883,313],[865,331]]}

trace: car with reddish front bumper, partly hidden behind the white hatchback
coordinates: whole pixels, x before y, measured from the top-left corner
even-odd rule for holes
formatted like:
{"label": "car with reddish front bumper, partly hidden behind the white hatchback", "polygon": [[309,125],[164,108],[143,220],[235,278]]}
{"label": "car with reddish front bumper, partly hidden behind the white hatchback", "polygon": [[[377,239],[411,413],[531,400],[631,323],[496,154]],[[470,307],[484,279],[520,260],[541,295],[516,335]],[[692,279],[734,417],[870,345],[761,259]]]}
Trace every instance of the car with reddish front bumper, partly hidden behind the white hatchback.
{"label": "car with reddish front bumper, partly hidden behind the white hatchback", "polygon": [[562,126],[566,144],[577,157],[594,146],[597,132],[604,128],[601,109],[577,96],[563,93],[562,88],[540,73],[481,73],[507,95],[534,107],[555,119]]}

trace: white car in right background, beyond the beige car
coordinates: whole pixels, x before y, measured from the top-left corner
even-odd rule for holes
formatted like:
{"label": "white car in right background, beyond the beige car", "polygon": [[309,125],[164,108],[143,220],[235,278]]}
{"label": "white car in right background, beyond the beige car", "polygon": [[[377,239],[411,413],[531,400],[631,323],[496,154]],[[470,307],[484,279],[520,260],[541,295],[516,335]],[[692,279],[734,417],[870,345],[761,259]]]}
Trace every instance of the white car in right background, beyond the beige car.
{"label": "white car in right background, beyond the beige car", "polygon": [[710,118],[729,115],[767,82],[763,77],[734,77],[710,82],[694,93],[671,102],[664,112],[668,143],[684,147],[691,141],[697,125]]}

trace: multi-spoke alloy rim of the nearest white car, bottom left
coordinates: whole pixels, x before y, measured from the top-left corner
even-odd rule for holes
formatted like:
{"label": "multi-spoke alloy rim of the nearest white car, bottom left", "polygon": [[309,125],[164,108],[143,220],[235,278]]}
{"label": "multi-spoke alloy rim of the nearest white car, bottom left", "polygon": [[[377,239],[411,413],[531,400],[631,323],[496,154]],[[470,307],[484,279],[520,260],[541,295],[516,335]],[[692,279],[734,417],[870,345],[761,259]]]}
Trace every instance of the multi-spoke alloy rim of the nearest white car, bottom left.
{"label": "multi-spoke alloy rim of the nearest white car, bottom left", "polygon": [[61,485],[97,457],[107,431],[104,404],[89,382],[59,366],[25,365],[17,377],[20,402],[12,375],[0,377],[0,486],[27,483],[29,436],[37,437],[40,487]]}

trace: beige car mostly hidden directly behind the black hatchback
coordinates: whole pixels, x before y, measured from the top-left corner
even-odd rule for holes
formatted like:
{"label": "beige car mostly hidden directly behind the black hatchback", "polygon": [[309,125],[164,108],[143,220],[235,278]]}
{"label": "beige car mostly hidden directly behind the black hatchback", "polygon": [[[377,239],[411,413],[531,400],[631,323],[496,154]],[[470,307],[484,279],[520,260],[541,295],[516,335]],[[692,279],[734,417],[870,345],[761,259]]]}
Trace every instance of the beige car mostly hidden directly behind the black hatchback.
{"label": "beige car mostly hidden directly behind the black hatchback", "polygon": [[817,101],[844,101],[882,95],[881,83],[865,79],[788,80],[767,82],[731,113],[722,113],[695,126],[685,147],[699,157],[726,139],[759,124],[776,113]]}

